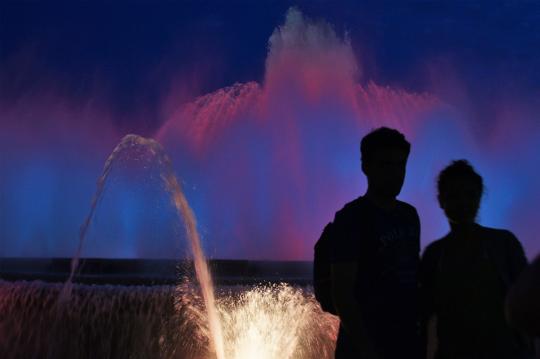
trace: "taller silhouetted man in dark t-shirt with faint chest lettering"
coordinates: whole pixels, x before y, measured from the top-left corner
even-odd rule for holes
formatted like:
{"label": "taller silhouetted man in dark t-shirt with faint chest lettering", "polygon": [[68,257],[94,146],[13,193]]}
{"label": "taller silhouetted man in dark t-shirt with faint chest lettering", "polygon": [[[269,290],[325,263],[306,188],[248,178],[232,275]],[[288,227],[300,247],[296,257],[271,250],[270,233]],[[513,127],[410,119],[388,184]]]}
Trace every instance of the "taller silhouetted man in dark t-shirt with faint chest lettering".
{"label": "taller silhouetted man in dark t-shirt with faint chest lettering", "polygon": [[361,142],[368,188],[334,218],[331,281],[341,325],[336,359],[417,358],[420,221],[396,199],[410,144],[379,128]]}

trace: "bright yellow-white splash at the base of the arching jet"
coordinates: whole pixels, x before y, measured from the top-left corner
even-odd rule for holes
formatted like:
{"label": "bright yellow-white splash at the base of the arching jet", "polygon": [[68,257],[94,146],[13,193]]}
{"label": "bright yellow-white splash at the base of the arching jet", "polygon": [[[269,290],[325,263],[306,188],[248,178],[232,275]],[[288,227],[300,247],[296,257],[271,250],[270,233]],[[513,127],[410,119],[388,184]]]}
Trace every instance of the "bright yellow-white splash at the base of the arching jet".
{"label": "bright yellow-white splash at the base of the arching jet", "polygon": [[286,284],[259,286],[218,303],[228,359],[331,358],[336,317]]}

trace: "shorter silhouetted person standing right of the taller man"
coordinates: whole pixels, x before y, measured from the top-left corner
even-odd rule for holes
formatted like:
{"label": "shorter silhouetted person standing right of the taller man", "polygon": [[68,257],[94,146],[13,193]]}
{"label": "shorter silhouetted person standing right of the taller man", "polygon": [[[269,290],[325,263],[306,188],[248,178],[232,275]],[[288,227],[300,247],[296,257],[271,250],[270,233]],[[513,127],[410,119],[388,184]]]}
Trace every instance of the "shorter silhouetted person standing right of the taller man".
{"label": "shorter silhouetted person standing right of the taller man", "polygon": [[484,184],[467,161],[446,167],[437,187],[450,233],[426,248],[420,267],[423,327],[435,316],[436,358],[529,358],[529,340],[504,313],[506,293],[527,265],[521,244],[476,223]]}

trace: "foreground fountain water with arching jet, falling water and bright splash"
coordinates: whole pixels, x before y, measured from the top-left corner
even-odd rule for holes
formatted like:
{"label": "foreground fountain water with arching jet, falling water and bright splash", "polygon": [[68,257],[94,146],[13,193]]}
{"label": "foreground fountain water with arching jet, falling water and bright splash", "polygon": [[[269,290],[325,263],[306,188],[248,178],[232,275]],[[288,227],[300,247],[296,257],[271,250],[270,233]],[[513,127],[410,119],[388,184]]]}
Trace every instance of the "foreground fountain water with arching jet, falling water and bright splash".
{"label": "foreground fountain water with arching jet, falling water and bright splash", "polygon": [[[74,284],[81,250],[114,164],[142,153],[184,222],[198,286]],[[143,156],[144,157],[144,156]],[[218,288],[217,298],[197,223],[161,145],[125,136],[107,159],[80,229],[64,285],[0,281],[0,351],[7,358],[326,358],[333,354],[337,320],[321,312],[309,289],[288,284]]]}

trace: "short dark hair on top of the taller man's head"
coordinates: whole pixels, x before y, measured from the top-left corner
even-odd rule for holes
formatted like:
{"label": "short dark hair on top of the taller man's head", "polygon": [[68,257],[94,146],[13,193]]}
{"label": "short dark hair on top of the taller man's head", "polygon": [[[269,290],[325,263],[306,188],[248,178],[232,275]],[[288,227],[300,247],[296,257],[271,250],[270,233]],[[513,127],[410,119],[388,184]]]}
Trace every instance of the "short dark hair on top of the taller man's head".
{"label": "short dark hair on top of the taller man's head", "polygon": [[379,127],[365,135],[360,142],[362,163],[369,161],[377,151],[385,148],[398,148],[406,152],[407,156],[411,152],[411,144],[401,132],[393,128]]}

